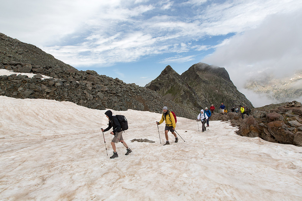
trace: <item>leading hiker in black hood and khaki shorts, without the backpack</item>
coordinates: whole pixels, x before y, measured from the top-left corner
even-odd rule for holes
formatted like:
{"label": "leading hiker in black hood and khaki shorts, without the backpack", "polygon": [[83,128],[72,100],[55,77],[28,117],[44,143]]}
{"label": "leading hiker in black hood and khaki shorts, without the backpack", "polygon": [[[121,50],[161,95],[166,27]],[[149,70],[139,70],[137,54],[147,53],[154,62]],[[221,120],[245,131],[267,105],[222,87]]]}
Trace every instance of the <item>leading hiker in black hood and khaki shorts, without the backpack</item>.
{"label": "leading hiker in black hood and khaki shorts, without the backpack", "polygon": [[118,121],[117,117],[113,116],[112,111],[110,111],[110,110],[106,111],[105,115],[108,118],[109,123],[108,123],[108,128],[106,128],[105,130],[102,129],[102,131],[106,132],[106,131],[110,130],[113,127],[113,131],[111,131],[110,134],[114,135],[114,137],[111,141],[111,146],[112,146],[112,149],[113,149],[113,155],[110,158],[114,159],[114,158],[118,157],[116,147],[115,147],[115,143],[118,143],[119,141],[121,141],[121,143],[123,143],[125,145],[126,149],[127,149],[127,152],[125,153],[125,155],[130,154],[132,151],[127,146],[126,142],[123,139],[123,136],[122,136],[123,130],[121,129],[120,122]]}

